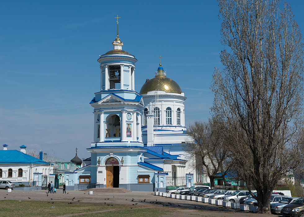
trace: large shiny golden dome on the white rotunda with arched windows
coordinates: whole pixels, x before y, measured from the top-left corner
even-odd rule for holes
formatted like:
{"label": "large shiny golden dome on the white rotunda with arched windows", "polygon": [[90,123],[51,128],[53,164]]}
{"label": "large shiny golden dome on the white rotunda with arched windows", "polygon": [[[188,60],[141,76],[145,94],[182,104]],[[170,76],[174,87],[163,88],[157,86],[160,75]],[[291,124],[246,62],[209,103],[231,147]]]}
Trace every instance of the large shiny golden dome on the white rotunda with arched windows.
{"label": "large shiny golden dome on the white rotunda with arched windows", "polygon": [[148,93],[149,91],[155,91],[156,89],[166,91],[166,93],[181,94],[181,87],[177,84],[177,82],[166,77],[155,77],[145,82],[145,84],[141,87],[139,94],[142,95]]}

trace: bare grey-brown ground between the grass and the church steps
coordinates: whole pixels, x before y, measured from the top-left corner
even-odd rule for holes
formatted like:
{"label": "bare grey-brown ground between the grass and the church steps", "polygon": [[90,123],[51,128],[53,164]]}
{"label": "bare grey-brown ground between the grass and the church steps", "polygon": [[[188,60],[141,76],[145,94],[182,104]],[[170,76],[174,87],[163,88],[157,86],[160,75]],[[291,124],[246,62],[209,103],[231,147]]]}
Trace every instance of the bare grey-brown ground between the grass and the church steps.
{"label": "bare grey-brown ground between the grass and the church steps", "polygon": [[[4,198],[6,197],[6,198]],[[29,197],[31,199],[29,199]],[[75,197],[75,199],[73,199]],[[13,189],[12,192],[0,189],[1,200],[39,200],[39,201],[66,201],[75,203],[101,203],[123,204],[133,209],[157,208],[161,210],[170,210],[169,214],[163,214],[162,217],[275,217],[278,215],[255,214],[248,211],[234,210],[223,206],[216,206],[196,201],[179,200],[169,197],[155,196],[153,192],[129,192],[129,193],[94,193],[89,195],[88,191],[67,191],[63,194],[61,189],[57,189],[56,194],[48,194],[47,190],[39,191],[20,191]],[[74,201],[73,201],[74,200]],[[79,200],[79,201],[78,201]],[[133,201],[132,201],[133,200]],[[137,203],[137,204],[136,204]],[[132,205],[136,204],[136,205]],[[109,208],[110,209],[110,208]],[[113,211],[113,210],[111,210]],[[103,211],[104,212],[104,211]],[[75,216],[73,215],[65,215]],[[279,215],[280,216],[280,215]]]}

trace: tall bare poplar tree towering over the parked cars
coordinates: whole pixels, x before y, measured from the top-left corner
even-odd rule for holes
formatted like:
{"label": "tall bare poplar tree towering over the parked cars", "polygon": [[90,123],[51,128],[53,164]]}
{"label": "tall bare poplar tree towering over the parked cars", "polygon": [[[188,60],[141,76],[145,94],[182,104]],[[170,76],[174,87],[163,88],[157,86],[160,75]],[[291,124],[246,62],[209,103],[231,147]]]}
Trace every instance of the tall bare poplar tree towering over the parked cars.
{"label": "tall bare poplar tree towering over the parked cars", "polygon": [[258,212],[282,175],[302,162],[303,43],[287,3],[218,0],[224,69],[215,69],[212,113],[234,130],[238,175],[257,190]]}

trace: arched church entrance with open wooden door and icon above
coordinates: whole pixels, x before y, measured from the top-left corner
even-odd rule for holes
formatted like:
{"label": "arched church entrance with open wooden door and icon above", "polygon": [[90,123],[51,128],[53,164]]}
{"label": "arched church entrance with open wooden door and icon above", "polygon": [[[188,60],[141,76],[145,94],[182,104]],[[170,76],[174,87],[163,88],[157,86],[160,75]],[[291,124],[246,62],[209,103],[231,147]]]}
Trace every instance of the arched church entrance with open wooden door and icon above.
{"label": "arched church entrance with open wooden door and icon above", "polygon": [[110,157],[105,162],[106,166],[106,187],[119,188],[119,160]]}

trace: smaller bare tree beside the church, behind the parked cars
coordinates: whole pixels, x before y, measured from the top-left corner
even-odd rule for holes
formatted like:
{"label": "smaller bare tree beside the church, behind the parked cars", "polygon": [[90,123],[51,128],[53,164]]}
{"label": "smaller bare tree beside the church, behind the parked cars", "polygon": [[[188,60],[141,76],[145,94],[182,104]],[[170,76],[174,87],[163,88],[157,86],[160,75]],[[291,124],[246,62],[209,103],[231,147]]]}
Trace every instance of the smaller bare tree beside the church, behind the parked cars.
{"label": "smaller bare tree beside the church, behind the parked cars", "polygon": [[[212,187],[215,178],[223,178],[226,185],[225,175],[230,167],[221,126],[221,122],[212,119],[208,119],[208,122],[195,121],[187,129],[190,139],[184,145],[185,152],[194,158],[195,166],[205,169]],[[217,175],[218,172],[221,175]]]}

